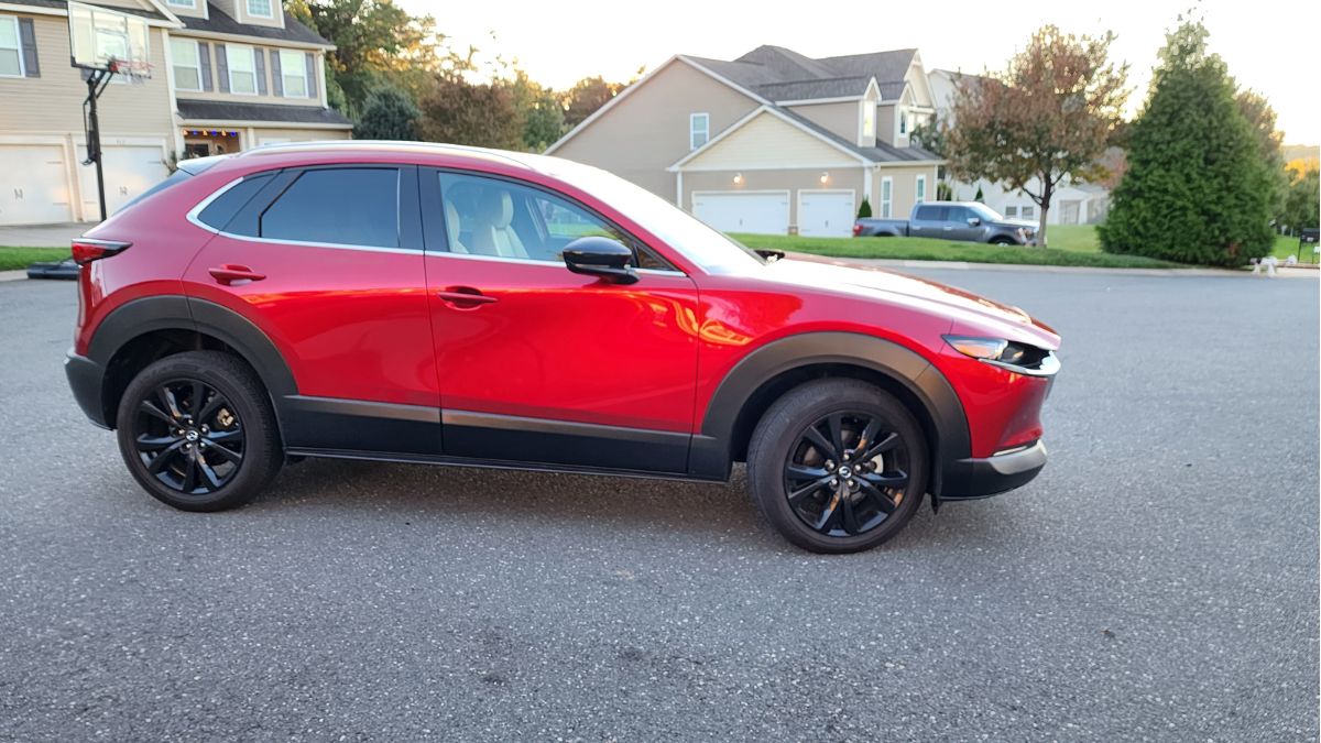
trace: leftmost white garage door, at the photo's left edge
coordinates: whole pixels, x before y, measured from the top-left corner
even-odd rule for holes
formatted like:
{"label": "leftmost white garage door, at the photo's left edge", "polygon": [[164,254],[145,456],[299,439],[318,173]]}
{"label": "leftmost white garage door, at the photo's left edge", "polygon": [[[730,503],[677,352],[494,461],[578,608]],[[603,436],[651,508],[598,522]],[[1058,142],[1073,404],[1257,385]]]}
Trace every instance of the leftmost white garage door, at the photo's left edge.
{"label": "leftmost white garage door, at the photo's left edge", "polygon": [[0,225],[73,221],[58,144],[0,144]]}

